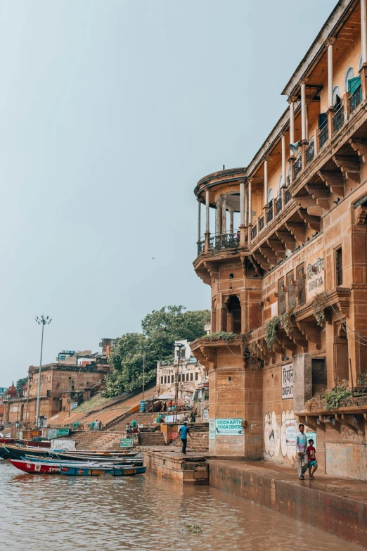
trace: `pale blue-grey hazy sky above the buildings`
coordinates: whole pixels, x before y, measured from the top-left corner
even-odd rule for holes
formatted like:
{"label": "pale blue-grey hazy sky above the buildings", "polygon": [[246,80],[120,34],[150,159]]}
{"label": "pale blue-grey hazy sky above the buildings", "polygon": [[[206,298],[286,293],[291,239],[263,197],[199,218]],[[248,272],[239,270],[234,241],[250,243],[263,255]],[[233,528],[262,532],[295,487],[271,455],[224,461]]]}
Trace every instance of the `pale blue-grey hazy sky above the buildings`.
{"label": "pale blue-grey hazy sky above the buildings", "polygon": [[[336,0],[0,0],[0,386],[210,307],[193,189],[245,167]],[[202,210],[202,226],[204,210]]]}

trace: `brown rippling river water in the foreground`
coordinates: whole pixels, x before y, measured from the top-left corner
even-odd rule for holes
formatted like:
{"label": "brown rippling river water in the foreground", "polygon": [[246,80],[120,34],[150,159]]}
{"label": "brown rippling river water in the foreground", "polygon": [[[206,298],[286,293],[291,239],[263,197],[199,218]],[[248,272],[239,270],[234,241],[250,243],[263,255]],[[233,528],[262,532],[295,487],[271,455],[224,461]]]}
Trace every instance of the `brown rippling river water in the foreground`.
{"label": "brown rippling river water in the foreground", "polygon": [[18,473],[0,460],[1,551],[363,550],[220,490],[149,472],[117,479]]}

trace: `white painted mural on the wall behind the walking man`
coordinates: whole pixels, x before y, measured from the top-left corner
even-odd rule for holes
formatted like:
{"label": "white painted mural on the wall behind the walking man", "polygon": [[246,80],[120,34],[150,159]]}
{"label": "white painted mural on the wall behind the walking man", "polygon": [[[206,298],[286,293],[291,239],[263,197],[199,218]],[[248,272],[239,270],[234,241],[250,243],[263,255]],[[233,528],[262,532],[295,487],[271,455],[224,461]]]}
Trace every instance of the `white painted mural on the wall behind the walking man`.
{"label": "white painted mural on the wall behind the walking man", "polygon": [[281,456],[288,459],[295,458],[295,445],[288,443],[288,433],[286,422],[294,419],[293,410],[283,410],[281,419],[276,419],[276,412],[265,414],[264,420],[264,448],[265,453],[270,457]]}

